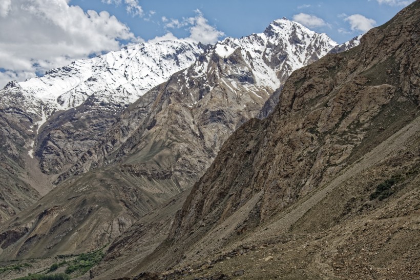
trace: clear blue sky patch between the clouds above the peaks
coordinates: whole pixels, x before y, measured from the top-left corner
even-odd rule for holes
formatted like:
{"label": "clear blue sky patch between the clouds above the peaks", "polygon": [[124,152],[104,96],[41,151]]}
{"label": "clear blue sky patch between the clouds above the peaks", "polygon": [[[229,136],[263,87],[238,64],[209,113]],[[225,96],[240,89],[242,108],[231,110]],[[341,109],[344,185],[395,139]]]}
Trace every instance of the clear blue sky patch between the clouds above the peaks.
{"label": "clear blue sky patch between the clouds above the peaks", "polygon": [[[114,2],[115,3],[115,2]],[[125,10],[124,2],[106,4],[100,0],[72,0],[71,5],[78,5],[83,10],[107,10],[120,21],[127,24],[131,31],[145,40],[161,36],[171,31],[178,37],[187,36],[185,28],[171,29],[164,27],[162,17],[181,20],[182,17],[195,16],[199,9],[208,23],[223,31],[227,36],[240,37],[250,33],[262,32],[274,19],[283,16],[293,19],[293,15],[305,13],[324,20],[326,25],[309,27],[317,32],[327,33],[334,41],[343,43],[361,33],[351,30],[344,14],[361,14],[381,25],[400,11],[407,1],[284,1],[284,0],[155,0],[139,1],[144,15],[133,16]],[[150,11],[154,14],[151,15]],[[152,13],[153,13],[152,12]],[[341,32],[339,32],[339,30]]]}

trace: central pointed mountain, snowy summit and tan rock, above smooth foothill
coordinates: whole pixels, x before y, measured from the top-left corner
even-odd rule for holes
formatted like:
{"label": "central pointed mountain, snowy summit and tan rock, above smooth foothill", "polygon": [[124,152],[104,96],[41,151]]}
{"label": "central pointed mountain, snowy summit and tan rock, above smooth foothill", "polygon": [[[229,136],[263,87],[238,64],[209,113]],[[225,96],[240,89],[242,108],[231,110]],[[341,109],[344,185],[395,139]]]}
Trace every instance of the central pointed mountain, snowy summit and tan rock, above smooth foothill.
{"label": "central pointed mountain, snowy summit and tan rock, above smooth foothill", "polygon": [[[190,68],[174,74],[165,85],[125,110],[113,133],[83,155],[60,179],[109,162],[110,153],[112,157],[117,154],[117,161],[123,161],[121,157],[133,150],[154,153],[157,146],[161,151],[154,158],[164,151],[181,157],[187,155],[185,163],[182,163],[185,159],[173,158],[166,165],[173,167],[179,178],[191,167],[192,179],[196,179],[227,136],[254,117],[256,110],[293,70],[319,59],[334,45],[325,34],[286,19],[271,23],[264,33],[241,39],[226,38],[203,53]],[[178,112],[177,116],[174,112]],[[180,146],[171,144],[172,141],[167,143],[174,135],[189,143]],[[163,142],[171,148],[162,146]],[[155,145],[153,151],[151,145]]]}

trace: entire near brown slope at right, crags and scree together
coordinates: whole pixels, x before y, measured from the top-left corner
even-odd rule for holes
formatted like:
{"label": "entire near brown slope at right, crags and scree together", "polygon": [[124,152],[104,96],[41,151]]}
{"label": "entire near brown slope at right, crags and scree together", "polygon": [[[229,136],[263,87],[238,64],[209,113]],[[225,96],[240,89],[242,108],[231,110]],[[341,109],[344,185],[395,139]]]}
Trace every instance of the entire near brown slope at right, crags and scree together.
{"label": "entire near brown slope at right, crags and scree together", "polygon": [[[360,46],[295,71],[274,112],[229,137],[169,237],[118,273],[415,278],[419,26],[416,1]],[[108,265],[131,246],[118,243]]]}

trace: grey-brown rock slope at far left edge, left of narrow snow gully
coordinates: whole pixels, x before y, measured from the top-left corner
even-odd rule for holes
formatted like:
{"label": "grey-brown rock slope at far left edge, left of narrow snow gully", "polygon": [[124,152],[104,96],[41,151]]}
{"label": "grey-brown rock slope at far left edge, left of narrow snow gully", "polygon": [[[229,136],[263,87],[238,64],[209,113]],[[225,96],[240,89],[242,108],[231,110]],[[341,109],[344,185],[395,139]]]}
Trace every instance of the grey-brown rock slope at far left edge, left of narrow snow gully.
{"label": "grey-brown rock slope at far left edge, left of narrow snow gully", "polygon": [[[13,90],[14,86],[9,83],[7,88]],[[31,187],[29,172],[25,170],[27,151],[34,145],[31,138],[36,114],[24,110],[23,101],[18,92],[13,98],[0,99],[0,223],[40,197]]]}

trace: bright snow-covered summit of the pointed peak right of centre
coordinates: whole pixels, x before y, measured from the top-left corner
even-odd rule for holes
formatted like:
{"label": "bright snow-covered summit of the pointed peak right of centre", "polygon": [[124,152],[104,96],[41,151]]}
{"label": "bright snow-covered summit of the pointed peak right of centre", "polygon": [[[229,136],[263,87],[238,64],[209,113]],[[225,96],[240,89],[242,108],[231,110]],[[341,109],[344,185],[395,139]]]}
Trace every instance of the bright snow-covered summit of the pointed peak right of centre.
{"label": "bright snow-covered summit of the pointed peak right of centre", "polygon": [[317,33],[286,18],[272,22],[263,33],[225,38],[215,52],[227,57],[240,48],[256,78],[256,86],[274,91],[291,72],[308,65],[337,46],[325,33]]}

